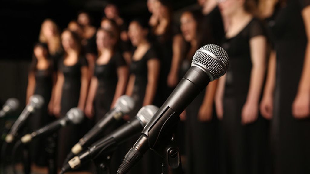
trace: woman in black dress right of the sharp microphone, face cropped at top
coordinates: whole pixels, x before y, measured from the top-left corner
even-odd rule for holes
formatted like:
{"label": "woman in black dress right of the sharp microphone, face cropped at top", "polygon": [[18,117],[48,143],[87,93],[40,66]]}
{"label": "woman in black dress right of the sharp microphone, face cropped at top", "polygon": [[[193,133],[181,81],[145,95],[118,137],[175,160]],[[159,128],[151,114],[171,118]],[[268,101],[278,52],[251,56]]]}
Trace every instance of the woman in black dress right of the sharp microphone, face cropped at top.
{"label": "woman in black dress right of the sharp microphone, face cropped at top", "polygon": [[222,45],[229,55],[229,68],[219,79],[216,94],[216,111],[224,129],[223,173],[266,173],[268,126],[259,114],[259,101],[267,39],[249,3],[239,0],[219,3],[229,24]]}

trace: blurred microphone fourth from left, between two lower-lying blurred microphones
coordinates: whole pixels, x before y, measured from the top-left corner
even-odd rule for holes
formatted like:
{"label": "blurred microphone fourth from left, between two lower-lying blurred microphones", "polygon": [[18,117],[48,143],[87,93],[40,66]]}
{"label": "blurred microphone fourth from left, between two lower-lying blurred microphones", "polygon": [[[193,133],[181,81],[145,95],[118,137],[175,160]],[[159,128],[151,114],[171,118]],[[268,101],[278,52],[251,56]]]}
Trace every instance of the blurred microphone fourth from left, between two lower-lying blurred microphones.
{"label": "blurred microphone fourth from left, between two lower-lying blurred microphones", "polygon": [[133,98],[127,95],[118,98],[114,108],[105,114],[104,117],[93,128],[91,128],[91,130],[88,131],[88,133],[86,133],[75,146],[73,146],[67,159],[71,159],[73,156],[79,154],[83,148],[91,144],[93,139],[105,128],[121,120],[123,115],[129,114],[134,106],[135,102]]}

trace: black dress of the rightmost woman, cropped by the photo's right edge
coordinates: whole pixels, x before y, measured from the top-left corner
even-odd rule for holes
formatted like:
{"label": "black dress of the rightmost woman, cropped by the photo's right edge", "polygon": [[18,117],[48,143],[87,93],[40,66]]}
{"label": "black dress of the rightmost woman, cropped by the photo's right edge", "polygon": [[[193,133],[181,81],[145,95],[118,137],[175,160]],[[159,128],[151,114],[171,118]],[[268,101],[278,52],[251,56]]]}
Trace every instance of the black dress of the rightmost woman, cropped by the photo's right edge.
{"label": "black dress of the rightmost woman, cropped by the photo's right edge", "polygon": [[268,22],[277,52],[277,81],[272,123],[276,174],[310,173],[310,120],[296,120],[292,103],[303,70],[307,36],[301,11],[309,0],[287,0]]}

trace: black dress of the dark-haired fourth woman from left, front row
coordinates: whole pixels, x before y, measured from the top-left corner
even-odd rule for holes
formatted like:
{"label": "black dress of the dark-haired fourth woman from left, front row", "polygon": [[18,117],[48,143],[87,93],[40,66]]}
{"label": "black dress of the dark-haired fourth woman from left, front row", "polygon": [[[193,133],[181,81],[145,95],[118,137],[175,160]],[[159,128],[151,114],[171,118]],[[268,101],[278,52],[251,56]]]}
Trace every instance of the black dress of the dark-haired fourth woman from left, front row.
{"label": "black dress of the dark-haired fourth woman from left, front row", "polygon": [[[132,117],[138,113],[141,109],[144,101],[146,85],[148,83],[148,66],[147,62],[150,59],[157,59],[153,46],[144,54],[140,60],[132,60],[130,65],[131,74],[135,75],[135,84],[132,91],[132,98],[135,101],[134,111],[132,112]],[[134,145],[137,139],[140,137],[136,136],[131,139],[127,151]],[[152,150],[144,155],[144,157],[132,168],[131,174],[158,174],[161,172],[162,159],[155,154]]]}

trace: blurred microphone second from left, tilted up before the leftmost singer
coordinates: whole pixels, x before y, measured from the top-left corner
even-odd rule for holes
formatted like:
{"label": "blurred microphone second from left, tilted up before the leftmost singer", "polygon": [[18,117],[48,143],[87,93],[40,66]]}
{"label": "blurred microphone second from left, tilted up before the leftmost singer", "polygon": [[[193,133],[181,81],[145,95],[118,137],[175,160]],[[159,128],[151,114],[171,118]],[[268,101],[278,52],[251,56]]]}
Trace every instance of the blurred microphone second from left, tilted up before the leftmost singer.
{"label": "blurred microphone second from left, tilted up before the leftmost singer", "polygon": [[5,137],[7,143],[11,143],[14,140],[14,137],[17,135],[20,127],[24,125],[25,120],[28,118],[30,113],[33,113],[36,109],[39,109],[44,104],[44,99],[41,95],[35,94],[29,98],[29,103],[22,111],[18,119],[15,121],[11,127],[10,132]]}

